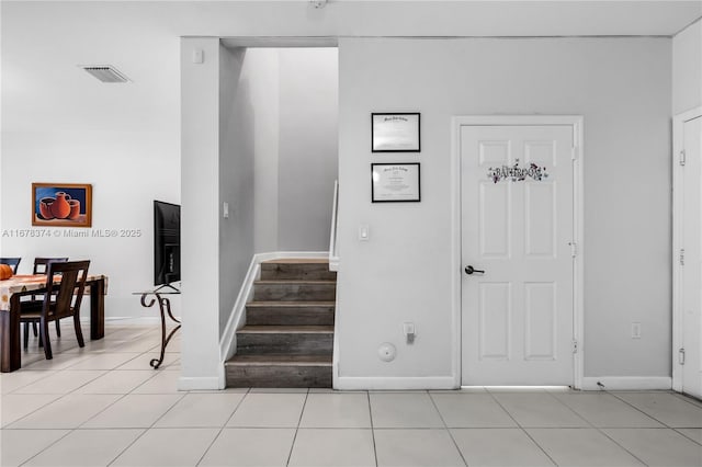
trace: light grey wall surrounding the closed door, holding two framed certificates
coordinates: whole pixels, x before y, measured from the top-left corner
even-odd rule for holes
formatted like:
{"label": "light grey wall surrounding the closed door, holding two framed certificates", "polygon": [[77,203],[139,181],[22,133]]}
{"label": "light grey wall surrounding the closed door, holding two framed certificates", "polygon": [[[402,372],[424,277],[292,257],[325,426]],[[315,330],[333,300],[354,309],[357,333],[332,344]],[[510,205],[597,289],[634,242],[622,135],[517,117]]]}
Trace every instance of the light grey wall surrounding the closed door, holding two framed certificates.
{"label": "light grey wall surrounding the closed door, holding two framed certificates", "polygon": [[[451,117],[472,114],[585,117],[585,374],[670,375],[670,39],[339,48],[340,376],[451,375]],[[421,153],[371,153],[370,114],[383,111],[421,112]],[[375,161],[421,162],[421,203],[371,204]],[[416,323],[411,346],[404,321]],[[383,342],[398,349],[390,364],[377,357]]]}

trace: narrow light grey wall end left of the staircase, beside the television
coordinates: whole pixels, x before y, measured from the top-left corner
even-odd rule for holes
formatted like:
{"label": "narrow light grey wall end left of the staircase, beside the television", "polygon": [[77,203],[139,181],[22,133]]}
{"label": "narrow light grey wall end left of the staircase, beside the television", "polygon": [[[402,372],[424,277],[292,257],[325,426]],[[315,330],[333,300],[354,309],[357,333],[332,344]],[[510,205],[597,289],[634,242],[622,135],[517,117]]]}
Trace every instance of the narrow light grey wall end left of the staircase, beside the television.
{"label": "narrow light grey wall end left of the staircase, beside the television", "polygon": [[[219,39],[181,39],[181,389],[224,387],[219,357]],[[202,62],[193,54],[202,53]],[[234,68],[234,64],[233,68]],[[228,68],[228,67],[226,67]],[[225,104],[227,102],[224,102]]]}

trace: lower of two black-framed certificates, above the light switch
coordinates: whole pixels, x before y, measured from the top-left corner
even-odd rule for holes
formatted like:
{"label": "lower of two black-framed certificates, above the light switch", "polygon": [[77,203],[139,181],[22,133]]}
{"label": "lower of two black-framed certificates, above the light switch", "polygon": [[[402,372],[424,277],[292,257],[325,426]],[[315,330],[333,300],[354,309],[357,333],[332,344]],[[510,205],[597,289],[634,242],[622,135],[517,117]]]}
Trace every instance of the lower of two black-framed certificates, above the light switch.
{"label": "lower of two black-framed certificates, above the light switch", "polygon": [[372,163],[371,201],[401,203],[421,201],[419,163]]}

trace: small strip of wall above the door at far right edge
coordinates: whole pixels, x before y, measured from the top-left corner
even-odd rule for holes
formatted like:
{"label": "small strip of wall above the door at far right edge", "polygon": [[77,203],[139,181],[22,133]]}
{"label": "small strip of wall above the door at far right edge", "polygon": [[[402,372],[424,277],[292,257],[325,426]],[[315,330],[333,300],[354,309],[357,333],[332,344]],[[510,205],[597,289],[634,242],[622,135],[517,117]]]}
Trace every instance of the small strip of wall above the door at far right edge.
{"label": "small strip of wall above the door at far right edge", "polygon": [[672,38],[672,113],[702,105],[702,20]]}

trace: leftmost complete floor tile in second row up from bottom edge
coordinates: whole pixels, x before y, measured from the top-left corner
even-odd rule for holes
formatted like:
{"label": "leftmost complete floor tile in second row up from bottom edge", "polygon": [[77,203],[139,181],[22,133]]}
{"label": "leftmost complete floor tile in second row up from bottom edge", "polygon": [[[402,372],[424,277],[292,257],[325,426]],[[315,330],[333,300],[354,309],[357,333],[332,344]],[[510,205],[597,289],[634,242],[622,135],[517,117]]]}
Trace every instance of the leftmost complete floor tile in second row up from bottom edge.
{"label": "leftmost complete floor tile in second row up from bottom edge", "polygon": [[10,424],[12,429],[75,429],[121,396],[69,394]]}

